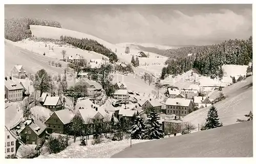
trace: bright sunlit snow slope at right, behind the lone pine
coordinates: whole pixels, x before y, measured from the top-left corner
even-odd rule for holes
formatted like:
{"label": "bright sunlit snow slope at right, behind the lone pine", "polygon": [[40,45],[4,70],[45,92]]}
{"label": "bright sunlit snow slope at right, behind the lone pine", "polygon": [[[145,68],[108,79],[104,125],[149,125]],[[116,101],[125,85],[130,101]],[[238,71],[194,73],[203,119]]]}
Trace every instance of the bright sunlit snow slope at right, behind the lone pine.
{"label": "bright sunlit snow slope at right, behind the lone pine", "polygon": [[[250,82],[252,82],[252,77],[223,88],[223,92],[228,98],[214,104],[214,106],[217,108],[220,122],[224,126],[236,124],[237,119],[245,119],[244,115],[252,111],[252,85],[248,85]],[[215,91],[210,98],[216,98],[218,93],[219,91]],[[209,108],[210,106],[189,113],[184,117],[184,121],[201,126],[205,123]]]}

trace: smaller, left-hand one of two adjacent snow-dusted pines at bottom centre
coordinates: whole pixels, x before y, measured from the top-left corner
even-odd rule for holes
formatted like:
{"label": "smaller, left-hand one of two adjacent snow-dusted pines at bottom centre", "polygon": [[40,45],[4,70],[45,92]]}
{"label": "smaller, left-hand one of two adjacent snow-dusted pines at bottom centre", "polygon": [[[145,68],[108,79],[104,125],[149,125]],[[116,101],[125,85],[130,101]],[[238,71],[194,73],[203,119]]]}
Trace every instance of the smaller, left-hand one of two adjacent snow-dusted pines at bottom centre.
{"label": "smaller, left-hand one of two adjacent snow-dusted pines at bottom centre", "polygon": [[132,139],[144,139],[145,135],[145,124],[143,123],[142,118],[138,115],[133,121],[132,126]]}

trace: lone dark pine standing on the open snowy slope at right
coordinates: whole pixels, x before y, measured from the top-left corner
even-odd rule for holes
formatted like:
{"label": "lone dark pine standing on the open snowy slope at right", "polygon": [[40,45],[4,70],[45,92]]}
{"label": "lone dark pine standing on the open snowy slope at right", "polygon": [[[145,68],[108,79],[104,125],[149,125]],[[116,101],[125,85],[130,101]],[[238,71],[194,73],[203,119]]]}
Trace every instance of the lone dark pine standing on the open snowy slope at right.
{"label": "lone dark pine standing on the open snowy slope at right", "polygon": [[208,111],[208,114],[207,114],[207,119],[206,119],[206,123],[205,123],[205,130],[223,126],[222,123],[219,123],[219,118],[218,117],[219,116],[218,116],[218,112],[216,110],[216,107],[211,106],[211,108],[210,108],[210,110]]}

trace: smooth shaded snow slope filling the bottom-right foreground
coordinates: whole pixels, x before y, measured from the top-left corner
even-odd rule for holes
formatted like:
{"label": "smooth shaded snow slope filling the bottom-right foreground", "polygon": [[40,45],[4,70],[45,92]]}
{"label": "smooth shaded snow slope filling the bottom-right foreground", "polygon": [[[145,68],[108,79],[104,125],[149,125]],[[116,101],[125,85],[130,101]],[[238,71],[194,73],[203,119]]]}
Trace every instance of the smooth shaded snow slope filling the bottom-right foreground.
{"label": "smooth shaded snow slope filling the bottom-right foreground", "polygon": [[252,157],[252,121],[152,140],[126,148],[113,158]]}

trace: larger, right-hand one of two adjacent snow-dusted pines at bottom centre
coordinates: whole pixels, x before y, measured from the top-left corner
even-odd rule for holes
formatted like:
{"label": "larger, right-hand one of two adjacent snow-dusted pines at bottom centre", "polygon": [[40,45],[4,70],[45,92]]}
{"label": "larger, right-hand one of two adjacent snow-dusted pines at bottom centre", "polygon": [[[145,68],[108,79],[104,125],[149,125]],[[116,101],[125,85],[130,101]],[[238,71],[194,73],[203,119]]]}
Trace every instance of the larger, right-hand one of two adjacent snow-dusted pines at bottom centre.
{"label": "larger, right-hand one of two adjacent snow-dusted pines at bottom centre", "polygon": [[158,122],[159,116],[154,108],[150,109],[147,115],[145,126],[145,138],[147,139],[160,139],[163,137],[163,130]]}

